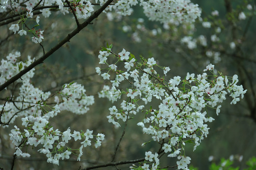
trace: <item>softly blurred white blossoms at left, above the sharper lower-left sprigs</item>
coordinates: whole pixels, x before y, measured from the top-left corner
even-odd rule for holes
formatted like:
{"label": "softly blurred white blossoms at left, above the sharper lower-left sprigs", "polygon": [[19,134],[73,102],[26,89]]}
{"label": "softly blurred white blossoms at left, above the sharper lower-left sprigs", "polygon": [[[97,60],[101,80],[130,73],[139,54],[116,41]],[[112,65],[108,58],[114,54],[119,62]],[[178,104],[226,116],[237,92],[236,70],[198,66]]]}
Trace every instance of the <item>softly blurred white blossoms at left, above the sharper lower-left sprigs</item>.
{"label": "softly blurred white blossoms at left, above the sharper lower-left sprigs", "polygon": [[[9,53],[6,59],[1,60],[0,85],[29,66],[34,60],[28,56],[26,62],[18,61],[19,57],[20,52],[17,51]],[[34,70],[34,68],[31,69],[15,83],[16,86],[19,85],[17,86],[18,95],[10,96],[4,104],[0,105],[3,108],[1,113],[2,123],[12,123],[17,117],[29,115],[53,117],[51,112],[43,109],[53,96],[61,110],[69,110],[75,114],[86,113],[89,110],[88,106],[94,103],[94,97],[86,95],[84,87],[77,83],[65,84],[62,89],[53,95],[50,92],[43,92],[30,82],[30,79],[34,76]]]}

